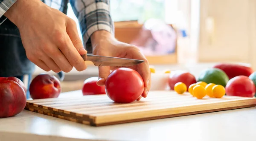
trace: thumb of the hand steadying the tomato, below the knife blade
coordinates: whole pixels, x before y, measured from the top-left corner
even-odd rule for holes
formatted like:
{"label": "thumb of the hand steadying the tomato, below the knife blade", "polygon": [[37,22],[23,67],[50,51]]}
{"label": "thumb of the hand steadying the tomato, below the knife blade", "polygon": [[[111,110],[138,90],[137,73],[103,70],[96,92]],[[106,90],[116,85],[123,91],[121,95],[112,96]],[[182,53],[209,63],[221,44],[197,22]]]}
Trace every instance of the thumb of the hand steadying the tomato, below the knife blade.
{"label": "thumb of the hand steadying the tomato, below the knife blade", "polygon": [[109,74],[110,74],[110,67],[108,66],[99,67],[99,79],[98,79],[97,85],[104,86],[105,81],[108,78]]}

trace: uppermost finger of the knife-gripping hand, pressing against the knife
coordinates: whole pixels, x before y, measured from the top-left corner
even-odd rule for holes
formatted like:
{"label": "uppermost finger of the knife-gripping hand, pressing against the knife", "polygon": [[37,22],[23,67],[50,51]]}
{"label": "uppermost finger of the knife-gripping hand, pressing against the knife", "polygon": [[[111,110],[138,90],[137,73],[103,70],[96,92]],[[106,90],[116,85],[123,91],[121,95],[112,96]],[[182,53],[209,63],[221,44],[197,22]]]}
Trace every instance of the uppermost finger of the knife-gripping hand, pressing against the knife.
{"label": "uppermost finger of the knife-gripping hand, pressing against the knife", "polygon": [[67,22],[67,34],[79,54],[87,54],[87,51],[84,49],[83,43],[79,37],[75,21],[71,20],[70,22]]}

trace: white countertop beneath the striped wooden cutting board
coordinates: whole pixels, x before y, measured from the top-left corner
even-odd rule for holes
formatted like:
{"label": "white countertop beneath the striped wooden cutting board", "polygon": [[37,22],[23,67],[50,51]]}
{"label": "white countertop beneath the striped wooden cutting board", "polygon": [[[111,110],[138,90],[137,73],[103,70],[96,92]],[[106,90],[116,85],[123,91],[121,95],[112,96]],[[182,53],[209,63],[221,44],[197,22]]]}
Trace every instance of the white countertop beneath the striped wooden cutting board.
{"label": "white countertop beneath the striped wooden cutting board", "polygon": [[[61,97],[79,96],[76,92]],[[78,94],[78,95],[77,95]],[[255,141],[256,107],[92,127],[24,110],[0,118],[0,141]]]}

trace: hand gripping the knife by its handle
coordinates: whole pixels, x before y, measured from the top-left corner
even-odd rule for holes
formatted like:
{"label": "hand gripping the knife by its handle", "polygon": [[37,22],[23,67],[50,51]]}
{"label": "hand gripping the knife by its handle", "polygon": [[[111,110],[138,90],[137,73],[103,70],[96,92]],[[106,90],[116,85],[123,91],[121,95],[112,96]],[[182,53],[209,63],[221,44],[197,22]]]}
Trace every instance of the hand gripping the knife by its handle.
{"label": "hand gripping the knife by its handle", "polygon": [[40,0],[17,0],[5,16],[19,28],[28,59],[44,71],[86,69],[76,23],[61,11]]}

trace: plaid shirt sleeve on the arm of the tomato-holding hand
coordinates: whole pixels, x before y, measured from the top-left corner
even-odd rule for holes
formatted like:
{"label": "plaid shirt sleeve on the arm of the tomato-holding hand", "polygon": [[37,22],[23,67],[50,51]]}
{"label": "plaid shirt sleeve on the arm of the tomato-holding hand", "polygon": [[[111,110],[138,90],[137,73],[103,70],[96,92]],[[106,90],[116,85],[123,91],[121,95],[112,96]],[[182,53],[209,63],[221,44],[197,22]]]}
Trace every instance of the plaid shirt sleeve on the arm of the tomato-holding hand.
{"label": "plaid shirt sleeve on the arm of the tomato-holding hand", "polygon": [[92,53],[90,36],[98,30],[114,34],[113,21],[110,15],[109,0],[70,0],[70,5],[79,20],[83,42],[86,50]]}

